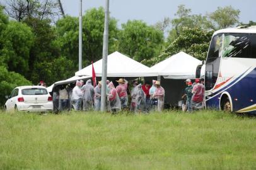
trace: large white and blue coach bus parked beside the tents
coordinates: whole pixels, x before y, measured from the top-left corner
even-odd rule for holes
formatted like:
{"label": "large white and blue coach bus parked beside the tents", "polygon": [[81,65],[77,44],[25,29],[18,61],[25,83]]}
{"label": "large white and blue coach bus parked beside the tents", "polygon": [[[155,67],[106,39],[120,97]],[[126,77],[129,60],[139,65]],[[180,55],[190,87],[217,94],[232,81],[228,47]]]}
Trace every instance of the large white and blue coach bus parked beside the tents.
{"label": "large white and blue coach bus parked beside the tents", "polygon": [[204,66],[206,108],[256,113],[256,26],[214,32]]}

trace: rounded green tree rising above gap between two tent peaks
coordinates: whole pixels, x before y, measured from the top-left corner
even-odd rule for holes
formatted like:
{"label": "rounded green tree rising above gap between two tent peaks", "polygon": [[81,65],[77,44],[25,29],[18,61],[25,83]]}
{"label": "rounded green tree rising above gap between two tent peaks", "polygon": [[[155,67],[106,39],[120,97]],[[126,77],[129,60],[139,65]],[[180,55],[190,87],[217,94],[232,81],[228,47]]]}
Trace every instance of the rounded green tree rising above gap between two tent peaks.
{"label": "rounded green tree rising above gap between two tent peaks", "polygon": [[133,20],[122,24],[119,31],[118,50],[139,62],[155,57],[163,44],[163,31],[148,26],[143,21]]}

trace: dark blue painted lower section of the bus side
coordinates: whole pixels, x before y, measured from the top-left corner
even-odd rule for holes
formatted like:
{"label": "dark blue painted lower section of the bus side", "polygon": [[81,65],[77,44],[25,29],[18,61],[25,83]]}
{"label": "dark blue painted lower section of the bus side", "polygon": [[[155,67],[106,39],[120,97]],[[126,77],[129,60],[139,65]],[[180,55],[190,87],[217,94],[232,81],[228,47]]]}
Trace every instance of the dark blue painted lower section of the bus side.
{"label": "dark blue painted lower section of the bus side", "polygon": [[[238,111],[254,105],[256,103],[256,68],[234,84],[231,88],[230,86],[228,86],[228,89],[225,91],[231,96],[233,111]],[[218,94],[217,96],[214,96],[206,101],[206,106],[210,108],[219,108],[220,96],[221,94]],[[252,111],[252,113],[256,113],[256,111]]]}

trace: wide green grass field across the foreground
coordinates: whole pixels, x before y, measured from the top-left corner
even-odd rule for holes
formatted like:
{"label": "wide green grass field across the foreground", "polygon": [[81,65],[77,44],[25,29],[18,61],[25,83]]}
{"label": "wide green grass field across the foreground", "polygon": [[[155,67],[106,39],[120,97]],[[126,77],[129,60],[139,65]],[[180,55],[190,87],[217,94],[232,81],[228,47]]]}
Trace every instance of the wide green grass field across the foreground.
{"label": "wide green grass field across the foreground", "polygon": [[0,113],[0,169],[256,169],[256,118]]}

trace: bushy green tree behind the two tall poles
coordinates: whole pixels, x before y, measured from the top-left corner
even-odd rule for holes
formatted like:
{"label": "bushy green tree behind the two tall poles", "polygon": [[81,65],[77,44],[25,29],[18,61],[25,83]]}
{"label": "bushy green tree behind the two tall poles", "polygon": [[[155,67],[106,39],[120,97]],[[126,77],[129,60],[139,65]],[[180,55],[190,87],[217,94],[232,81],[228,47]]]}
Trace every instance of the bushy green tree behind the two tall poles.
{"label": "bushy green tree behind the two tall poles", "polygon": [[[61,54],[73,60],[74,65],[78,65],[78,21],[77,17],[66,16],[57,21],[55,27],[58,36],[56,43],[61,48]],[[104,9],[93,8],[86,11],[83,16],[83,65],[102,59],[103,31]],[[116,37],[117,20],[110,18],[108,40],[110,53],[115,50],[112,46],[115,44]]]}

